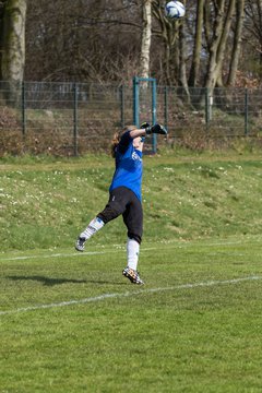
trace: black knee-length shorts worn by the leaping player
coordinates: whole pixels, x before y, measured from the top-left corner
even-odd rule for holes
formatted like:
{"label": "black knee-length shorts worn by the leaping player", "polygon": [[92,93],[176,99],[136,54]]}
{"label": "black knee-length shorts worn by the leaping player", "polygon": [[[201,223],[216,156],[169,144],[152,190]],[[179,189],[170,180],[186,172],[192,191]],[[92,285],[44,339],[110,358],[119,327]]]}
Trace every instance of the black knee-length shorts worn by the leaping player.
{"label": "black knee-length shorts worn by the leaping player", "polygon": [[142,204],[133,191],[127,187],[118,187],[110,192],[109,201],[97,217],[105,224],[122,215],[128,228],[128,237],[141,243],[143,234]]}

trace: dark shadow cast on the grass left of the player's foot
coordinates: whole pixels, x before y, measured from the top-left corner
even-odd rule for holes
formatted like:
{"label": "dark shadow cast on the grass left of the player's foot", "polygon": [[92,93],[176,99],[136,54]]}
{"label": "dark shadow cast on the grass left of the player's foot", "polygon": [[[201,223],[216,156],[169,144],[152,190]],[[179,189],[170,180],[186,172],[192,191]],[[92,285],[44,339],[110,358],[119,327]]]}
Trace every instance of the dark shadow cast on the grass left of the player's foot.
{"label": "dark shadow cast on the grass left of the player's foot", "polygon": [[55,286],[55,285],[61,285],[67,283],[72,284],[115,284],[115,285],[124,285],[126,283],[112,283],[109,281],[92,281],[92,279],[73,279],[73,278],[49,278],[45,276],[7,276],[9,279],[13,281],[36,281],[39,283],[43,283],[43,285],[46,286]]}

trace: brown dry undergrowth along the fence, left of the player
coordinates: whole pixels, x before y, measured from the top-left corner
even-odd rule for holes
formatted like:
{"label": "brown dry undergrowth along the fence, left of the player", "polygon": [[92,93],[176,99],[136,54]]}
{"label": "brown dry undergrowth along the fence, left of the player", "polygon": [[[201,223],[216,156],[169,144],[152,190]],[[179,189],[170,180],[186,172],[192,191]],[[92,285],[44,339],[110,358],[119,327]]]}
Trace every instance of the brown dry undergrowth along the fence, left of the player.
{"label": "brown dry undergrowth along the fence, left of the player", "polygon": [[[119,117],[110,112],[108,119],[102,120],[99,114],[83,116],[78,124],[78,140],[75,145],[73,122],[69,117],[60,116],[59,119],[46,116],[26,119],[26,129],[23,134],[20,112],[9,108],[1,108],[0,120],[0,156],[5,154],[48,154],[53,156],[73,156],[86,152],[97,153],[109,151],[110,140],[119,130],[116,119]],[[41,114],[43,115],[43,114]],[[45,114],[44,114],[45,115]],[[116,115],[116,116],[115,116]]]}

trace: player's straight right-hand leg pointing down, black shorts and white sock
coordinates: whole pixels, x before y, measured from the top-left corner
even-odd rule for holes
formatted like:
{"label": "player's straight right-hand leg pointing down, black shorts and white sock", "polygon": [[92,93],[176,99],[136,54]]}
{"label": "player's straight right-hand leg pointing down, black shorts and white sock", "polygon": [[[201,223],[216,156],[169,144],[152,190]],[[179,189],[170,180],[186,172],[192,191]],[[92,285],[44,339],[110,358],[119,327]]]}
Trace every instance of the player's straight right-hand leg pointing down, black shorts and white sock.
{"label": "player's straight right-hand leg pointing down, black shorts and white sock", "polygon": [[140,245],[143,234],[143,210],[141,202],[134,195],[123,213],[123,222],[128,227],[127,267],[123,275],[133,284],[144,284],[138,273]]}

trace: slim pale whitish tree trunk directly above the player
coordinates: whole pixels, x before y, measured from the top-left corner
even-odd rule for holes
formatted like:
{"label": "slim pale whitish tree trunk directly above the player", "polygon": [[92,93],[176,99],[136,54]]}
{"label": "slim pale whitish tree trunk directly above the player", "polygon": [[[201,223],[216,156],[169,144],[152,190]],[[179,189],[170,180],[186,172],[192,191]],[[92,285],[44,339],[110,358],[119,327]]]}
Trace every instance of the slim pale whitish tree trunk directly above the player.
{"label": "slim pale whitish tree trunk directly above the player", "polygon": [[152,36],[152,0],[143,2],[143,32],[140,56],[140,76],[150,76],[150,48]]}

